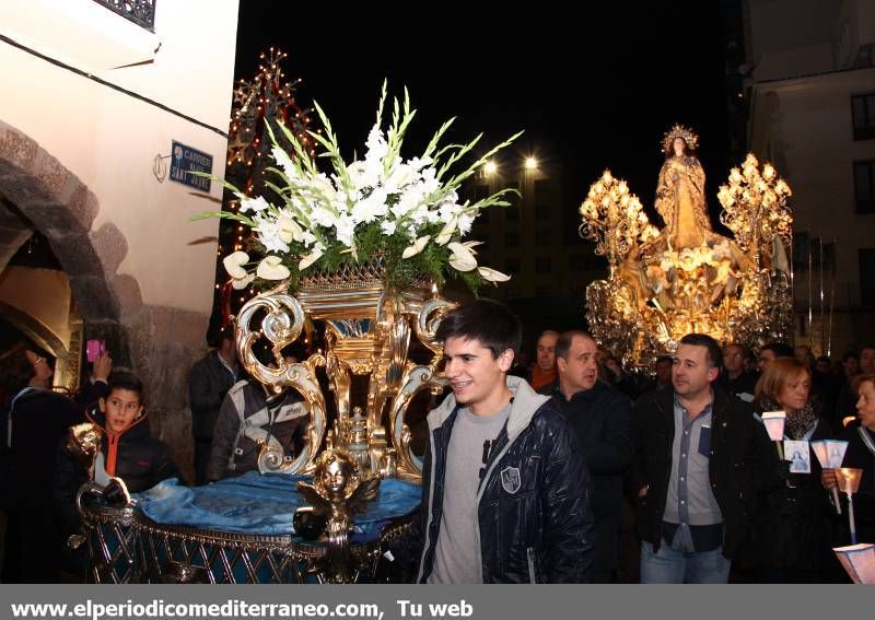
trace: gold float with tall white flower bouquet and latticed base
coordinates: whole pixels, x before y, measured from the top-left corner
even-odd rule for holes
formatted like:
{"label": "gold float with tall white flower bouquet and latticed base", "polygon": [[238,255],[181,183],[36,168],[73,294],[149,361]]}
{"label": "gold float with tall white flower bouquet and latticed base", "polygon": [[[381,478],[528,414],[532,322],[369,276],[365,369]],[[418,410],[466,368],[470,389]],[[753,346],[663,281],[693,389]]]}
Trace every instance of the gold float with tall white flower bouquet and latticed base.
{"label": "gold float with tall white flower bouquet and latticed base", "polygon": [[[394,102],[392,125],[383,130],[385,95],[384,85],[364,160],[343,162],[330,124],[317,105],[325,134],[313,131],[310,137],[322,144],[322,156],[330,161],[330,176],[318,171],[299,138],[280,124],[292,155],[269,127],[277,164],[268,169],[276,183],[265,184],[272,191],[271,201],[225,184],[236,197],[236,207],[231,212],[202,214],[247,225],[257,239],[250,251],[259,259],[234,251],[223,260],[234,289],[255,283],[265,290],[244,304],[234,319],[238,359],[268,393],[296,390],[310,408],[303,447],[289,455],[262,444],[258,470],[313,477],[312,483],[298,484],[298,492],[310,503],[299,514],[310,511],[323,516],[322,537],[301,541],[292,536],[241,536],[160,525],[130,502],[107,507],[83,501],[89,494],[106,499],[106,489],[92,481],[80,490],[77,501],[91,557],[91,580],[368,581],[374,578],[381,545],[409,527],[409,519],[400,519],[386,526],[375,542],[352,545],[349,540],[353,515],[378,495],[381,480],[421,482],[422,460],[411,448],[406,414],[418,394],[439,395],[447,385],[439,370],[443,349],[435,331],[455,304],[441,296],[441,283],[447,276],[472,288],[509,279],[479,266],[475,249],[479,242],[463,238],[482,209],[508,206],[503,195],[512,190],[459,203],[456,189],[518,133],[451,176],[448,168],[479,137],[468,144],[439,149],[451,120],[419,157],[401,160],[404,133],[416,110],[405,93],[400,104]],[[324,349],[292,361],[284,350],[305,338],[314,325],[324,334]],[[268,360],[259,359],[265,344]],[[319,383],[323,370],[327,391]],[[355,401],[360,393],[353,387],[363,383],[366,394]],[[336,412],[330,428],[329,398]],[[93,456],[93,441],[91,446]],[[170,559],[171,550],[178,548],[185,561]],[[219,569],[213,564],[220,564]]]}

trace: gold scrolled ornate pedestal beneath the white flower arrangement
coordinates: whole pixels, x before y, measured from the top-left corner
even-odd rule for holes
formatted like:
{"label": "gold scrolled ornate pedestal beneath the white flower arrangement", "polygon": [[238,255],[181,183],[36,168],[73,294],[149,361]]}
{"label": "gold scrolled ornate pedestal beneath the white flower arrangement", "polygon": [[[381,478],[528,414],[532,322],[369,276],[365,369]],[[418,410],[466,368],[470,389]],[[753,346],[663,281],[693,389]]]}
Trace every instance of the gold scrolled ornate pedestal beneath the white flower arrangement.
{"label": "gold scrolled ornate pedestal beneath the white flower arrangement", "polygon": [[[382,276],[378,265],[347,266],[337,274],[316,273],[304,279],[294,296],[279,288],[254,297],[242,308],[236,341],[246,370],[275,389],[300,390],[312,412],[301,455],[290,460],[262,446],[258,461],[262,472],[313,471],[327,430],[325,397],[315,370],[325,366],[338,412],[329,433],[331,445],[357,455],[362,467],[373,473],[421,479],[422,463],[410,449],[404,417],[420,389],[440,390],[445,385],[436,370],[443,350],[434,332],[454,304],[441,299],[425,282],[405,291],[387,290]],[[261,329],[254,329],[252,323],[260,312],[266,313]],[[325,325],[326,351],[289,365],[281,350],[300,337],[306,320]],[[408,360],[412,336],[431,351],[428,365]],[[271,342],[276,369],[256,359],[253,346],[260,338]],[[355,375],[370,377],[364,402],[351,401]],[[354,414],[357,408],[363,416]]]}

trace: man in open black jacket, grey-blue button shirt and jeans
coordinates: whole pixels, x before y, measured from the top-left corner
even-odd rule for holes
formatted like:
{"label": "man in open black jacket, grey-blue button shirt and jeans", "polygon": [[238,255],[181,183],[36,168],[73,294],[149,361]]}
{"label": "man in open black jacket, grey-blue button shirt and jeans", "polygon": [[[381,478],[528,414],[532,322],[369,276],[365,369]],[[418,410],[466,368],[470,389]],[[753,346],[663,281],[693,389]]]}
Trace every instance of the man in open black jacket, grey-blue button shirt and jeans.
{"label": "man in open black jacket, grey-blue button shirt and jeans", "polygon": [[777,453],[750,407],[715,383],[720,346],[680,340],[674,389],[634,407],[642,583],[726,583],[759,487],[779,470]]}

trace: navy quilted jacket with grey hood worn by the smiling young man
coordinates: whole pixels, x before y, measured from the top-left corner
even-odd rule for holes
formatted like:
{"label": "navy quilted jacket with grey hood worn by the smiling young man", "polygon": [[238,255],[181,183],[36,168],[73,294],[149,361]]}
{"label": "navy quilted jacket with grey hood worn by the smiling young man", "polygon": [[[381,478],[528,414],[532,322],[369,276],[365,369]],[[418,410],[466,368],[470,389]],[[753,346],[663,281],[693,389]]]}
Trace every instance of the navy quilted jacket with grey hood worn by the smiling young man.
{"label": "navy quilted jacket with grey hood worn by the smiling young man", "polygon": [[[483,583],[586,583],[594,525],[590,475],[573,432],[556,406],[524,379],[508,376],[513,401],[477,493]],[[450,395],[428,417],[417,582],[433,569],[440,536],[446,455],[458,405]]]}

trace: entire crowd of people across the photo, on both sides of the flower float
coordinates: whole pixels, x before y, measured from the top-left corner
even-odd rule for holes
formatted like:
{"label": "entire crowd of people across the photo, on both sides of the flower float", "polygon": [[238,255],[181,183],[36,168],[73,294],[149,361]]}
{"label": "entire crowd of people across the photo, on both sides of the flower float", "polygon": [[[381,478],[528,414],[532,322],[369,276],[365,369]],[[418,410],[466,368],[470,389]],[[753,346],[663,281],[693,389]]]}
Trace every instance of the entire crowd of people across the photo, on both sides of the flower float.
{"label": "entire crowd of people across the photo, on both sides of the flower float", "polygon": [[[450,394],[428,416],[421,515],[392,553],[420,583],[847,581],[831,551],[850,542],[847,499],[835,505],[836,472],[810,448],[824,438],[863,470],[858,535],[875,542],[875,346],[833,363],[690,334],[648,375],[585,331],[546,330],[525,369],[520,319],[488,300],[438,336]],[[51,372],[34,347],[0,355],[5,583],[82,577],[84,549],[66,542],[90,476],[130,492],[185,483],[109,353],[75,398]],[[262,443],[293,456],[308,421],[295,391],[247,379],[230,335],[191,369],[189,405],[198,486],[257,469]],[[777,410],[783,453],[761,421]],[[68,449],[83,421],[102,431],[93,472]]]}

